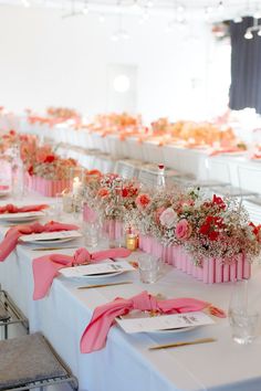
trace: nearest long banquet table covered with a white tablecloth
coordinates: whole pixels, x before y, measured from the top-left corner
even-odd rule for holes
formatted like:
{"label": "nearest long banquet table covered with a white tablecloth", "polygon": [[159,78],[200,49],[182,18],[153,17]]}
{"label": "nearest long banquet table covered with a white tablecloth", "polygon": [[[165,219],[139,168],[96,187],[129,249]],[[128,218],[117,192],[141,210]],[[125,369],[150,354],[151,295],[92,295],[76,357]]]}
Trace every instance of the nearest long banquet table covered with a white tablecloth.
{"label": "nearest long banquet table covered with a white tablecloth", "polygon": [[[46,201],[43,198],[33,200]],[[27,202],[30,201],[28,198]],[[1,204],[6,202],[1,201]],[[6,231],[7,228],[1,226],[1,239]],[[75,243],[72,242],[72,245]],[[74,251],[64,249],[56,252],[72,254]],[[207,285],[164,265],[160,278],[150,285],[142,284],[137,272],[132,272],[109,278],[109,283],[132,281],[133,284],[80,290],[77,287],[87,284],[87,281],[59,276],[49,295],[33,302],[32,260],[45,254],[46,251],[35,252],[29,245],[18,245],[0,264],[0,283],[29,318],[30,331],[42,331],[71,367],[81,391],[261,390],[261,337],[249,346],[234,344],[228,319],[216,318],[213,326],[178,334],[126,335],[118,326],[114,326],[104,349],[88,355],[80,352],[81,335],[93,309],[115,297],[127,298],[147,289],[166,297],[205,299],[227,310],[231,283]],[[136,257],[137,253],[130,255],[132,260]],[[260,286],[261,267],[257,265],[250,279],[257,300],[261,300]],[[217,341],[178,349],[148,350],[155,344],[203,337],[213,337]]]}

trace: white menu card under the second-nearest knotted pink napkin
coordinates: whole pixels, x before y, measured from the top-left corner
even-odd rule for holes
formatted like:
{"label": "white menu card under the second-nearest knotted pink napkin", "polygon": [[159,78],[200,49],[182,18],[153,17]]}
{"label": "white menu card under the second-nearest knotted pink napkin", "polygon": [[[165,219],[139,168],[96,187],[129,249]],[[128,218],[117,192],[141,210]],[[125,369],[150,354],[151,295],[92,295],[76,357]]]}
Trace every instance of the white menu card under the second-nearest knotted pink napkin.
{"label": "white menu card under the second-nearest knotted pink napkin", "polygon": [[90,264],[83,266],[74,266],[74,267],[66,267],[62,268],[60,273],[65,277],[84,277],[84,276],[101,276],[101,275],[109,275],[109,274],[117,274],[123,272],[133,272],[135,268],[126,261],[122,262],[108,262],[97,263],[97,264]]}

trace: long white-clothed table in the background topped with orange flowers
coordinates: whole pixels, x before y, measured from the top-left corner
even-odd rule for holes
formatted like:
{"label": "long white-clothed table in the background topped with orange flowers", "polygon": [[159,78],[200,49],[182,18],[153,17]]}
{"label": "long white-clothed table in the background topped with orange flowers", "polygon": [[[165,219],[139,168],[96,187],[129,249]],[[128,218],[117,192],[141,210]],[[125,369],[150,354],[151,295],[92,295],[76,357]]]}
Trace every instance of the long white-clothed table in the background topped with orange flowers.
{"label": "long white-clothed table in the background topped with orange flowers", "polygon": [[[211,177],[222,182],[230,182],[233,187],[261,193],[261,187],[257,181],[257,176],[261,173],[261,159],[250,159],[250,152],[218,154],[211,157],[211,149],[207,147],[192,149],[173,144],[158,146],[158,141],[153,139],[139,142],[137,136],[119,139],[118,135],[112,134],[104,137],[102,133],[86,128],[74,129],[65,123],[53,127],[46,124],[29,124],[27,118],[20,118],[19,130],[34,134],[41,140],[51,139],[55,144],[62,142],[69,148],[75,148],[76,155],[73,152],[75,158],[77,158],[77,148],[84,148],[86,155],[96,150],[114,159],[132,158],[139,160],[140,163],[163,162],[166,167],[194,175],[197,179]],[[97,168],[90,166],[92,165],[90,159],[85,160],[88,169]]]}

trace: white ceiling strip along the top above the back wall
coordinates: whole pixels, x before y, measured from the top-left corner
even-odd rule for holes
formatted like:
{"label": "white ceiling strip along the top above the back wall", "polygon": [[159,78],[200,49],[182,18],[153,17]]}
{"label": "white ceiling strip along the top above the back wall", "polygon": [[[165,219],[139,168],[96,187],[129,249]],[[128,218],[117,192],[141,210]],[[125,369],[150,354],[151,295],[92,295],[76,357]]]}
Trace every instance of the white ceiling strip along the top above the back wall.
{"label": "white ceiling strip along the top above the back wall", "polygon": [[243,15],[261,17],[261,1],[255,0],[0,0],[1,4],[25,8],[61,9],[76,13],[129,13],[176,15],[177,21],[221,21]]}

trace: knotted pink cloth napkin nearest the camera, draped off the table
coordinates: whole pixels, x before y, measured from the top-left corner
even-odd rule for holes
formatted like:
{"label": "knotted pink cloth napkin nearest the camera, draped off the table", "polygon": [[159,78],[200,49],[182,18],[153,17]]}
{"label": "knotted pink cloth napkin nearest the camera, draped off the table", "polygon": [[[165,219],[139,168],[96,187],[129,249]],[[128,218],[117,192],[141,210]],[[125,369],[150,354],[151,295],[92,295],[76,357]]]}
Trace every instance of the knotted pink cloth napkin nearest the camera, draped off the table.
{"label": "knotted pink cloth napkin nearest the camera, draped off the table", "polygon": [[196,298],[171,298],[157,300],[146,290],[128,299],[116,298],[114,302],[98,306],[93,313],[91,323],[81,338],[81,352],[90,353],[105,346],[106,338],[114,319],[126,315],[133,309],[153,310],[159,314],[180,314],[201,310],[209,303]]}

